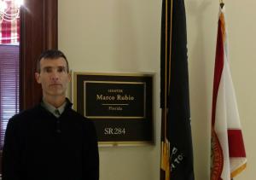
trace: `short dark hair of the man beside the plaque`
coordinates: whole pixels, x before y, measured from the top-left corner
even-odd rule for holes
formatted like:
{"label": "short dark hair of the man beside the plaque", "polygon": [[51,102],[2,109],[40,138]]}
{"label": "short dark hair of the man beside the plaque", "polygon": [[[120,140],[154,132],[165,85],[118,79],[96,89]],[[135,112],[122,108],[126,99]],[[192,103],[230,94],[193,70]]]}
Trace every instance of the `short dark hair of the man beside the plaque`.
{"label": "short dark hair of the man beside the plaque", "polygon": [[55,60],[58,58],[64,58],[66,63],[67,63],[67,73],[69,72],[69,66],[68,66],[68,61],[66,58],[66,55],[64,55],[64,53],[61,52],[61,50],[58,49],[49,49],[49,50],[45,50],[41,55],[39,55],[38,57],[38,61],[37,61],[37,73],[40,73],[40,61],[42,59],[50,59],[50,60]]}

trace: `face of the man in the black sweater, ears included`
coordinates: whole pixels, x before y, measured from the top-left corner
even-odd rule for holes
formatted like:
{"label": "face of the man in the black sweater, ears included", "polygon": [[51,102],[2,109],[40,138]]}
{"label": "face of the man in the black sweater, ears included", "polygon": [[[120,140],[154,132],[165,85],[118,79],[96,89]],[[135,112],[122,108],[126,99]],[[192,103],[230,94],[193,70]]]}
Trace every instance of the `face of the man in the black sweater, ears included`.
{"label": "face of the man in the black sweater, ears included", "polygon": [[42,59],[40,73],[35,73],[38,84],[42,85],[43,95],[65,96],[70,73],[67,73],[67,62],[64,58]]}

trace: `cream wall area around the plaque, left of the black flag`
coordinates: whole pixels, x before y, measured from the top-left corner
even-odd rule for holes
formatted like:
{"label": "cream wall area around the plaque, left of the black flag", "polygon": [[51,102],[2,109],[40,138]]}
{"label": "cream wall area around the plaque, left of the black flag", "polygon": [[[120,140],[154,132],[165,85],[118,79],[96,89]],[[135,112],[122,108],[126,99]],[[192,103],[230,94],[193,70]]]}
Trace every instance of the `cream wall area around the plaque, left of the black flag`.
{"label": "cream wall area around the plaque, left of the black flag", "polygon": [[[160,2],[75,3],[59,1],[59,47],[67,54],[73,71],[152,72],[157,73],[156,84],[160,84]],[[155,97],[156,145],[100,148],[101,180],[158,179],[160,111]]]}

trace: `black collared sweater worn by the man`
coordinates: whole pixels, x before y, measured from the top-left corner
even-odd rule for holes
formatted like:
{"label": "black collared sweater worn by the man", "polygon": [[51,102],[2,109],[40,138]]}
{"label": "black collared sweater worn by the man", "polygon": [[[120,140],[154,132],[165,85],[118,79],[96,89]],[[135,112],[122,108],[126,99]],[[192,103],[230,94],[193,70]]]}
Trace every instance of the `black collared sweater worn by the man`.
{"label": "black collared sweater worn by the man", "polygon": [[9,119],[3,180],[98,180],[93,122],[67,103],[59,118],[38,105]]}

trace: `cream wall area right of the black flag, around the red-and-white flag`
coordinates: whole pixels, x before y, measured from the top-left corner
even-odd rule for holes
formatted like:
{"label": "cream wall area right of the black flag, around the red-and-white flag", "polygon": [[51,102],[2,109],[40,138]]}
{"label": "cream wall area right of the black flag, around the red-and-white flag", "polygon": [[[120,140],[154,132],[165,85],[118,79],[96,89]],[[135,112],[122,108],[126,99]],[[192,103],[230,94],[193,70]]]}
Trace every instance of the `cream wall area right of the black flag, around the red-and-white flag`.
{"label": "cream wall area right of the black flag, around the red-and-white flag", "polygon": [[[230,67],[236,90],[247,169],[236,180],[255,179],[256,150],[253,131],[256,121],[256,13],[255,1],[224,1],[230,39]],[[212,107],[212,76],[217,34],[218,1],[186,1],[192,133],[196,179],[209,179],[209,136]]]}

